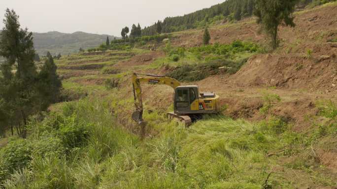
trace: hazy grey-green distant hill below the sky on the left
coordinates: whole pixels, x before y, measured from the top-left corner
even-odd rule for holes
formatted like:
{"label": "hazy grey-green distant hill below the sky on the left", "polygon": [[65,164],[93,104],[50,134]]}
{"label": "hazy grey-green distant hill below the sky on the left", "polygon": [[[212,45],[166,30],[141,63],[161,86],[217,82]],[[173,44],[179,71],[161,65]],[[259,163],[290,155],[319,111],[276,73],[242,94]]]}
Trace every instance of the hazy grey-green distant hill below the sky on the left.
{"label": "hazy grey-green distant hill below the sky on the left", "polygon": [[[115,36],[99,35],[77,31],[74,33],[61,33],[50,31],[47,33],[33,33],[34,47],[39,55],[77,53],[79,48],[88,49],[105,43],[106,36],[112,40]],[[118,38],[118,37],[116,37]]]}

